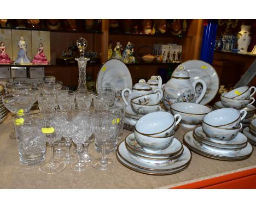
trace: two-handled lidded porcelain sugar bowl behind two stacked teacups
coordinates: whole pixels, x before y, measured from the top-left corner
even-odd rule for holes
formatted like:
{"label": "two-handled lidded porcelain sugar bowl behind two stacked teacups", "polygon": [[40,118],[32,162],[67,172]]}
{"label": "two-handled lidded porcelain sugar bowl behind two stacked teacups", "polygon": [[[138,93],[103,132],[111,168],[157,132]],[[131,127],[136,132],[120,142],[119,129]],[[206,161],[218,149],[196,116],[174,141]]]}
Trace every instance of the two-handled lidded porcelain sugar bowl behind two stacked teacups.
{"label": "two-handled lidded porcelain sugar bowl behind two stacked teacups", "polygon": [[[141,95],[156,93],[157,91],[160,92],[161,99],[162,99],[162,90],[161,89],[153,90],[152,87],[150,87],[150,85],[148,83],[146,83],[145,79],[139,79],[139,82],[133,86],[132,90],[130,88],[125,88],[122,90],[121,95],[122,95],[125,105],[130,106],[131,99],[141,96]],[[126,100],[126,96],[125,96],[126,92],[129,93],[127,100]]]}

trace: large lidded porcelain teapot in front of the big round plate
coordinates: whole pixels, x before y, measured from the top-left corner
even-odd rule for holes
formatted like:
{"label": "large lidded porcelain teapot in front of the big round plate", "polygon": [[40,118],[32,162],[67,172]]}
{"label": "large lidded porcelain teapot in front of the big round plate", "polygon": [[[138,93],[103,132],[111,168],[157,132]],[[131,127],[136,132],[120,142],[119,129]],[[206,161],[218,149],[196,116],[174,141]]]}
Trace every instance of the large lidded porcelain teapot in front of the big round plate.
{"label": "large lidded porcelain teapot in front of the big round plate", "polygon": [[[206,83],[202,79],[196,79],[192,84],[189,81],[189,73],[184,70],[184,66],[180,65],[174,70],[171,79],[165,84],[162,102],[166,109],[170,109],[170,105],[176,102],[195,102],[199,103],[206,93]],[[202,84],[202,93],[196,99],[196,84]]]}

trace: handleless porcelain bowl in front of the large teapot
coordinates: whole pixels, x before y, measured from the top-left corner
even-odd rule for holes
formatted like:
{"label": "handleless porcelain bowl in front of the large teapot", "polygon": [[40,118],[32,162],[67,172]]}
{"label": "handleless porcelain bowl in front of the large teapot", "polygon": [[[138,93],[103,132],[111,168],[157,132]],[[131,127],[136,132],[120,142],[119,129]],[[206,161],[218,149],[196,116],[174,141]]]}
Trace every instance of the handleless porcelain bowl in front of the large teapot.
{"label": "handleless porcelain bowl in front of the large teapot", "polygon": [[182,126],[194,128],[202,122],[207,113],[211,112],[211,109],[193,102],[177,102],[171,105],[171,112],[172,114],[181,114]]}

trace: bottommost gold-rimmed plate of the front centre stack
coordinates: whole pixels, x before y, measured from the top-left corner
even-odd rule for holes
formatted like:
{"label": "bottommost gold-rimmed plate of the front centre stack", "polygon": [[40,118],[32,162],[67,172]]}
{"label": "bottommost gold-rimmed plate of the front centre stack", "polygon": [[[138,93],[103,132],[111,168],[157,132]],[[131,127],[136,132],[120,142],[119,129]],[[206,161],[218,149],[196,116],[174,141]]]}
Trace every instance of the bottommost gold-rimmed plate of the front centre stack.
{"label": "bottommost gold-rimmed plate of the front centre stack", "polygon": [[148,174],[148,175],[171,175],[171,174],[179,173],[189,166],[189,163],[188,163],[187,165],[177,168],[175,170],[164,170],[164,171],[147,170],[147,169],[143,169],[143,168],[138,168],[138,167],[133,166],[132,164],[126,162],[125,160],[123,160],[123,158],[120,157],[120,155],[118,154],[117,151],[115,152],[115,155],[117,156],[118,161],[121,164],[123,164],[123,166],[125,166],[126,168],[134,170],[138,173],[144,173],[144,174]]}

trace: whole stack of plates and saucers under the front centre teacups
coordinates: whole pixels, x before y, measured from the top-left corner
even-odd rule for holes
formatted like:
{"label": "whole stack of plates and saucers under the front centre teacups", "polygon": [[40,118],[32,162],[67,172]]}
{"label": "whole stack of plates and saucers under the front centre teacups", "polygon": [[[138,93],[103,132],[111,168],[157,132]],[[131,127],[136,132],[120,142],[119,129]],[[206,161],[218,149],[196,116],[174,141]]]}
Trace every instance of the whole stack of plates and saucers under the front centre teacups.
{"label": "whole stack of plates and saucers under the front centre teacups", "polygon": [[173,138],[172,144],[158,152],[148,152],[139,145],[135,134],[128,135],[116,151],[118,161],[125,167],[149,175],[170,175],[189,166],[191,152],[187,146]]}

